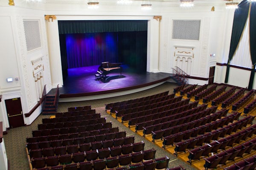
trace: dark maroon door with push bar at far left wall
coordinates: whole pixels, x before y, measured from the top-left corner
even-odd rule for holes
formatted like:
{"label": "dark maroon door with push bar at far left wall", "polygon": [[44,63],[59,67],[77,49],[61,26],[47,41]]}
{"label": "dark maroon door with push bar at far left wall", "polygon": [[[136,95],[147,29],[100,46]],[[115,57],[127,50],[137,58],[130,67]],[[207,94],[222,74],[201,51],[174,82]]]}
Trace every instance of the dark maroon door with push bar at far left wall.
{"label": "dark maroon door with push bar at far left wall", "polygon": [[19,98],[5,100],[6,111],[11,128],[24,126],[23,112]]}

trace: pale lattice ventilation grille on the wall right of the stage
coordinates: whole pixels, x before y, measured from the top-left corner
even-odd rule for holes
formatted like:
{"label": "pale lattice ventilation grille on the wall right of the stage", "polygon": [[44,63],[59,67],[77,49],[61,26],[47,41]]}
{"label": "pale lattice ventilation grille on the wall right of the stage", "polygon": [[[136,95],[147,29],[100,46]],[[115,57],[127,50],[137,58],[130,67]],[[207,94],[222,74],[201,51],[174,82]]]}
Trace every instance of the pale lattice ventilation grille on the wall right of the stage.
{"label": "pale lattice ventilation grille on the wall right of the stage", "polygon": [[201,20],[173,20],[172,39],[199,40]]}

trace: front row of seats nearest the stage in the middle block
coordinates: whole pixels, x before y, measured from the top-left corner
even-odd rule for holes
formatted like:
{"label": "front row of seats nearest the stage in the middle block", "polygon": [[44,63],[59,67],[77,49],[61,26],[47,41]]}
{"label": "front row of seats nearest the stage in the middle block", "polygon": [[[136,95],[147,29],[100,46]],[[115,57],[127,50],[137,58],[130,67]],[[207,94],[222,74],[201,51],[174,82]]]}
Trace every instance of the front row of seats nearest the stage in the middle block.
{"label": "front row of seats nearest the stage in the middle block", "polygon": [[151,96],[141,97],[141,98],[137,98],[137,99],[125,100],[122,102],[115,102],[115,103],[108,103],[108,104],[105,104],[105,109],[107,111],[107,110],[110,110],[111,108],[113,108],[114,106],[128,105],[131,103],[147,101],[147,100],[151,100],[151,99],[160,98],[162,96],[167,96],[168,94],[169,94],[169,91],[165,91],[163,93],[153,94]]}

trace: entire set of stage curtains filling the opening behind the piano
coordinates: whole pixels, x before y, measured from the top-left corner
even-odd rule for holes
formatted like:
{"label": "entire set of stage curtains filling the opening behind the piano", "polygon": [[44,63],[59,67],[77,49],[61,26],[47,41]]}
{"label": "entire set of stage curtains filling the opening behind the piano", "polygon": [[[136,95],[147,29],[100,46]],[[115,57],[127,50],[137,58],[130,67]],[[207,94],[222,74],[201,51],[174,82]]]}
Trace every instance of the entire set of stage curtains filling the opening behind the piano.
{"label": "entire set of stage curtains filling the opening behind the piano", "polygon": [[122,62],[146,71],[147,20],[58,21],[63,79],[68,68]]}

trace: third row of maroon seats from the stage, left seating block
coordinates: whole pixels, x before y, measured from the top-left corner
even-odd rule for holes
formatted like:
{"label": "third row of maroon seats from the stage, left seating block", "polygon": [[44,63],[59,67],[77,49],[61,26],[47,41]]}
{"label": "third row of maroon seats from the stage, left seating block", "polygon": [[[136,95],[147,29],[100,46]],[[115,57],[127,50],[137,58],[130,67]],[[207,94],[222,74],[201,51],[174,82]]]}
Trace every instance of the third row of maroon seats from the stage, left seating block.
{"label": "third row of maroon seats from the stage, left seating block", "polygon": [[88,114],[88,115],[78,115],[71,117],[56,117],[56,118],[44,118],[42,119],[42,123],[58,123],[58,122],[73,122],[73,121],[81,121],[81,120],[90,120],[90,119],[99,119],[100,113]]}

